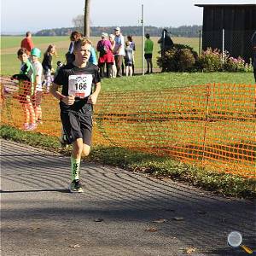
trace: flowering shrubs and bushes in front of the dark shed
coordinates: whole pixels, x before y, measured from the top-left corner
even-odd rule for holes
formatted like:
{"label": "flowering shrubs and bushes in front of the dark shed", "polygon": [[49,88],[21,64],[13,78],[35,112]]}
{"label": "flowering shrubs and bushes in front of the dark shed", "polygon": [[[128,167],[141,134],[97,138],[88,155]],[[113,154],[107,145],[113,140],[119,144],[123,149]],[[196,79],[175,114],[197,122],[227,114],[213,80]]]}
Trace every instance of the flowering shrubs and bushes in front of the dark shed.
{"label": "flowering shrubs and bushes in front of the dark shed", "polygon": [[174,44],[172,49],[157,58],[162,72],[253,72],[252,63],[241,57],[234,58],[220,50],[208,48],[200,56],[188,45]]}

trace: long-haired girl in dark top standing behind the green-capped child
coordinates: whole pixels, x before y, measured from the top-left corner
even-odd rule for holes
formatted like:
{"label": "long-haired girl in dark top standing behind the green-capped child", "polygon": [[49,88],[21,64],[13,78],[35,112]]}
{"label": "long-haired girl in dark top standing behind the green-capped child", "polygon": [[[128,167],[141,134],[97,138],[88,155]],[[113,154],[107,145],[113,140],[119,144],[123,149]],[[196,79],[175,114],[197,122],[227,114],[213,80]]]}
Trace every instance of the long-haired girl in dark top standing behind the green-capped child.
{"label": "long-haired girl in dark top standing behind the green-capped child", "polygon": [[42,62],[42,66],[44,69],[44,82],[46,91],[49,92],[49,85],[52,83],[51,73],[53,72],[52,67],[52,56],[56,55],[56,48],[54,44],[49,44],[48,48],[44,53],[44,59]]}

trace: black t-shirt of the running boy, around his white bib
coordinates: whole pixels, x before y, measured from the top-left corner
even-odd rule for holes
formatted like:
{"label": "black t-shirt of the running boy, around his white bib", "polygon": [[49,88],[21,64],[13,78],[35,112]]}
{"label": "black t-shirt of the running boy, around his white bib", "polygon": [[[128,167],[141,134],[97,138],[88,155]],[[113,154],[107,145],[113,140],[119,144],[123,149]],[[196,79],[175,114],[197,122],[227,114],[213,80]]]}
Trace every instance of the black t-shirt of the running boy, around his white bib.
{"label": "black t-shirt of the running boy, around his white bib", "polygon": [[[92,84],[97,84],[101,82],[99,68],[91,63],[87,63],[86,67],[76,67],[73,63],[69,63],[64,67],[61,67],[60,71],[58,72],[57,76],[55,77],[54,83],[62,86],[61,94],[64,96],[68,96],[68,81],[69,76],[78,76],[79,75],[91,75],[92,77]],[[92,88],[92,87],[91,87]],[[90,90],[91,94],[92,91]],[[66,105],[64,102],[60,102],[61,111],[77,111],[82,112],[91,110],[91,104],[87,103],[88,96],[84,98],[75,97],[75,102],[73,105],[69,106]]]}

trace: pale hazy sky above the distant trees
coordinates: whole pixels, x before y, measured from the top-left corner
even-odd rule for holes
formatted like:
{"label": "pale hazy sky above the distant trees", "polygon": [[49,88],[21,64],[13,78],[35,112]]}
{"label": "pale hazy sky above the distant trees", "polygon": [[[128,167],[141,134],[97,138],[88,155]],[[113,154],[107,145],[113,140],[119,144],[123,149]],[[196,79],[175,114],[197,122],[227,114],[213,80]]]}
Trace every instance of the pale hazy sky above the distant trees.
{"label": "pale hazy sky above the distant trees", "polygon": [[[91,26],[138,26],[144,6],[145,26],[201,25],[195,3],[256,3],[256,0],[91,0]],[[72,5],[73,4],[73,5]],[[38,32],[73,26],[84,0],[1,0],[1,32]]]}

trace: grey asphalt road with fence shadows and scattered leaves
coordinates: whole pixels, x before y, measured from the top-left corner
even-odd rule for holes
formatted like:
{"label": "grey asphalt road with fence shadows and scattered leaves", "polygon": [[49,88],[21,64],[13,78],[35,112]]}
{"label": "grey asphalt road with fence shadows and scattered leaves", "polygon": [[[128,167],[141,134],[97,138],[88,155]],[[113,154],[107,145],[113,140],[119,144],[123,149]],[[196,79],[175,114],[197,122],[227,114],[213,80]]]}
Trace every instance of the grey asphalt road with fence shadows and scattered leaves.
{"label": "grey asphalt road with fence shadows and scattered leaves", "polygon": [[86,161],[80,176],[70,194],[68,157],[2,140],[1,255],[247,255],[232,230],[256,249],[255,202]]}

